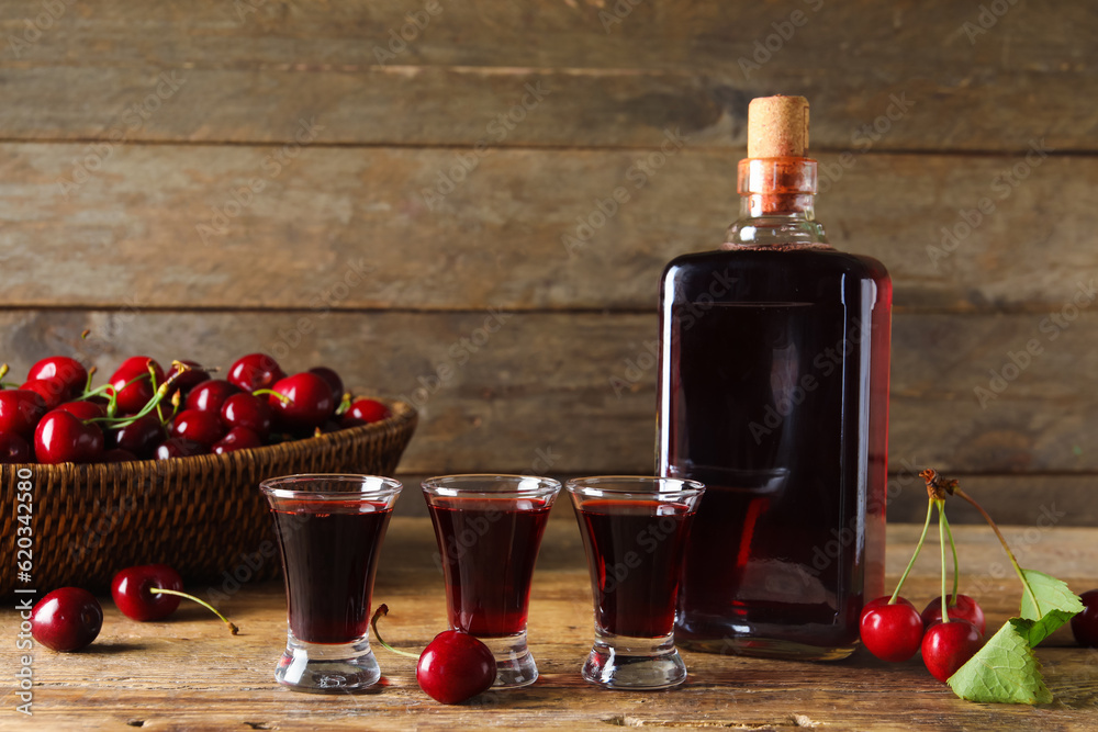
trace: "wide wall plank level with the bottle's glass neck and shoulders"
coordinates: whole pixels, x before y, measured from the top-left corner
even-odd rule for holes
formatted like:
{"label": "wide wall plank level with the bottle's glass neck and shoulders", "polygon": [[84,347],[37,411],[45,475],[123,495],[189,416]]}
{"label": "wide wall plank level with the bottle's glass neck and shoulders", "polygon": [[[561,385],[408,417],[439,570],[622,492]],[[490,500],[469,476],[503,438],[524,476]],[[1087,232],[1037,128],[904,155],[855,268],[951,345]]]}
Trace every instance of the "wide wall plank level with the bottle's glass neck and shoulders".
{"label": "wide wall plank level with the bottle's glass neck and shoulders", "polygon": [[[439,149],[89,149],[0,145],[0,302],[651,312],[671,258],[724,240],[741,155],[688,143],[669,144],[669,155],[480,159]],[[478,161],[470,172],[462,155]],[[101,164],[61,194],[58,181],[86,160]],[[885,262],[899,309],[1056,312],[1098,274],[1098,159],[866,155],[821,156],[821,166],[832,182],[818,215],[832,243]],[[439,177],[451,172],[461,180],[441,196]],[[616,202],[615,191],[628,199]],[[994,210],[981,213],[982,201]]]}

